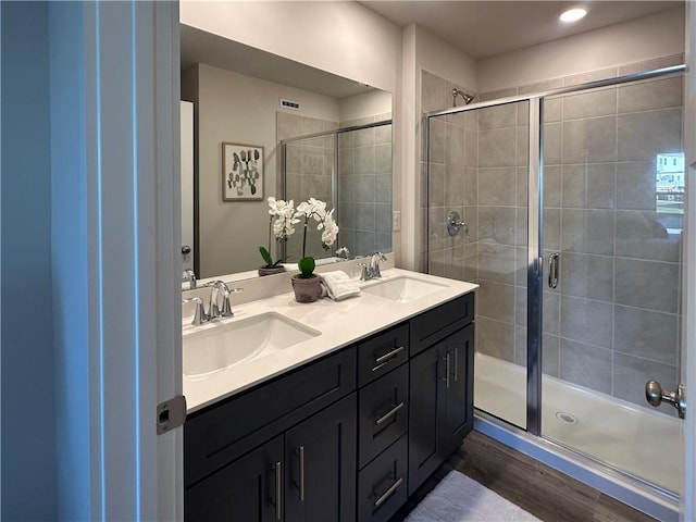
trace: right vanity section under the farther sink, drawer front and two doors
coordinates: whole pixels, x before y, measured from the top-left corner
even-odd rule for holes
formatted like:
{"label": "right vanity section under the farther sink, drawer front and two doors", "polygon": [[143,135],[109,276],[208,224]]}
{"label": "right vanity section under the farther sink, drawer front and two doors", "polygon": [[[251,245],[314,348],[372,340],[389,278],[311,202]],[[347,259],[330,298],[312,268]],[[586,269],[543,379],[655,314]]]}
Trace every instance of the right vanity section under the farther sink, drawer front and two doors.
{"label": "right vanity section under the farther sink, drawer front and two doors", "polygon": [[[470,310],[463,321],[450,313],[458,301]],[[430,346],[421,343],[410,362],[409,495],[473,428],[473,295],[417,320],[411,322],[411,352],[414,338],[428,339]]]}

